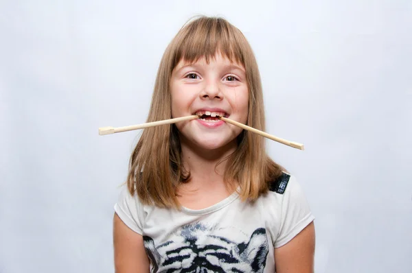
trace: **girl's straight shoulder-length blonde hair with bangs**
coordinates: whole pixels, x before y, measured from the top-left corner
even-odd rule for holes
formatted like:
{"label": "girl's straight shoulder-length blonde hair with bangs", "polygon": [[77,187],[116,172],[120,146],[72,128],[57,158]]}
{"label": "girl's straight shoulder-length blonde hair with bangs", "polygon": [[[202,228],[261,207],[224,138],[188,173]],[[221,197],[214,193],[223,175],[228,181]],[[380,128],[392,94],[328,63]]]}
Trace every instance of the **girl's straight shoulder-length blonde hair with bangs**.
{"label": "girl's straight shoulder-length blonde hair with bangs", "polygon": [[[218,51],[244,66],[249,88],[247,125],[264,131],[262,84],[255,56],[242,32],[219,17],[201,16],[190,21],[165,49],[147,122],[171,118],[170,78],[176,65],[181,60],[193,62],[200,58],[209,62]],[[277,179],[282,170],[266,154],[264,138],[243,130],[236,151],[227,158],[224,179],[228,185],[238,183],[242,200],[256,200],[268,191],[268,182]],[[130,156],[130,193],[137,192],[144,204],[179,209],[176,190],[188,181],[190,172],[183,169],[176,126],[145,129]]]}

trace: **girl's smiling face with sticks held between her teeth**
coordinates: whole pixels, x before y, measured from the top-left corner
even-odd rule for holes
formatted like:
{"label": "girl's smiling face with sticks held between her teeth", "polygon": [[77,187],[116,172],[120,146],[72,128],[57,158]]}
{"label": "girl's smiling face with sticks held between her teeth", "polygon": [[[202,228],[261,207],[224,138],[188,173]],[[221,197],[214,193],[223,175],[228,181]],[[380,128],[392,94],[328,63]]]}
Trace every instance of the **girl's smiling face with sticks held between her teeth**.
{"label": "girl's smiling face with sticks held between her teeth", "polygon": [[[176,123],[181,142],[190,142],[205,150],[214,150],[236,137],[241,128],[221,121],[224,116],[240,123],[247,122],[249,91],[244,67],[216,54],[207,64],[179,62],[170,82],[172,117],[203,115],[201,119]],[[190,144],[187,143],[187,144]]]}

